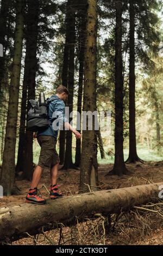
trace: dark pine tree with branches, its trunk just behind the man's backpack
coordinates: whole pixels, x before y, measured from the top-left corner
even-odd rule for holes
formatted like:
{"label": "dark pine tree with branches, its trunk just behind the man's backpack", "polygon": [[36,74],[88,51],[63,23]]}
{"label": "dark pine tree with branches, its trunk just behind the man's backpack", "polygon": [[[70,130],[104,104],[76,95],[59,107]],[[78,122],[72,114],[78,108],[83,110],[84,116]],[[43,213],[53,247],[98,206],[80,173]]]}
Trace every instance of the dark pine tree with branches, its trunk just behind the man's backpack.
{"label": "dark pine tree with branches, its trunk just behind the man's backpack", "polygon": [[[53,1],[27,2],[26,11],[26,57],[24,66],[22,101],[21,101],[21,117],[20,117],[20,134],[18,143],[18,155],[16,172],[23,170],[23,174],[19,179],[32,179],[33,174],[33,133],[26,131],[27,112],[29,110],[29,99],[35,99],[35,83],[37,76],[42,71],[40,68],[40,55],[42,48],[48,51],[49,43],[46,37],[53,36],[53,28],[49,27],[48,16],[54,15],[56,5]],[[40,49],[41,48],[41,49]],[[44,73],[42,73],[44,74]],[[45,75],[45,74],[44,74]],[[28,99],[27,99],[28,90]],[[40,90],[40,88],[38,88]],[[28,104],[27,104],[28,103]]]}

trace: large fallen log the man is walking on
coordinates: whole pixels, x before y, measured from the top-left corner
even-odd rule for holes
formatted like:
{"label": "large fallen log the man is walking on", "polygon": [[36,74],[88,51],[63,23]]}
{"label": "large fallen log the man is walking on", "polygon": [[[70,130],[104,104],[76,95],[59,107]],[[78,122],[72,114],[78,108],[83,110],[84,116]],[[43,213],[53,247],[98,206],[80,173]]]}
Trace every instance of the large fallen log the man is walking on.
{"label": "large fallen log the man is walking on", "polygon": [[161,185],[163,182],[47,200],[45,205],[24,203],[0,208],[0,241],[17,240],[26,232],[39,233],[40,228],[49,223],[52,229],[57,227],[57,223],[70,224],[77,217],[84,221],[84,217],[97,213],[116,214],[137,205],[155,202],[159,199]]}

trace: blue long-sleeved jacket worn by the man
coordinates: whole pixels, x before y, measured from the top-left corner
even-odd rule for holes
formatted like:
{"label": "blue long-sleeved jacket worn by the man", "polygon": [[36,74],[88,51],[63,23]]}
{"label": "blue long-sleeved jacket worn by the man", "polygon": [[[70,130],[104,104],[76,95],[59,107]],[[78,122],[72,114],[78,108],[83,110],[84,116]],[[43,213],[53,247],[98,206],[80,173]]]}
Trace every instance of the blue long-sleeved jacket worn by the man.
{"label": "blue long-sleeved jacket worn by the man", "polygon": [[[54,101],[49,102],[48,119],[51,122],[49,127],[44,131],[38,131],[36,138],[40,135],[53,136],[57,138],[60,124],[67,122],[65,117],[65,103],[60,100],[57,95],[52,95],[49,100],[54,99]],[[57,121],[56,121],[57,120]],[[57,127],[56,127],[57,126]]]}

